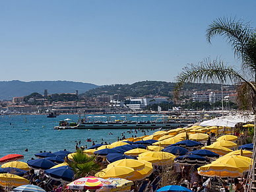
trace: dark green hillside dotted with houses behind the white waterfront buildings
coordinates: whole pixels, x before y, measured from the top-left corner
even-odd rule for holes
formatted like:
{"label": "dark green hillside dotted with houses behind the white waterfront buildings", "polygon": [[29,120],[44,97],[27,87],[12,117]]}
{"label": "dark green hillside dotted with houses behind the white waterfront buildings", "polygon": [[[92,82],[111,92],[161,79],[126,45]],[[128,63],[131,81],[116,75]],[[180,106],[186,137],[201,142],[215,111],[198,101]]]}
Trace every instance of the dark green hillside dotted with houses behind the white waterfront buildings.
{"label": "dark green hillside dotted with houses behind the white waterfront buildings", "polygon": [[[133,84],[114,84],[114,85],[106,85],[106,86],[99,86],[98,88],[94,88],[91,90],[86,91],[82,96],[88,97],[96,97],[96,96],[111,96],[113,94],[121,94],[125,97],[132,96],[132,97],[139,97],[139,96],[146,96],[146,95],[153,95],[153,96],[170,96],[170,92],[174,90],[174,86],[176,83],[174,82],[164,82],[164,81],[142,81],[142,82],[135,82]],[[220,84],[186,84],[183,90],[220,90]]]}

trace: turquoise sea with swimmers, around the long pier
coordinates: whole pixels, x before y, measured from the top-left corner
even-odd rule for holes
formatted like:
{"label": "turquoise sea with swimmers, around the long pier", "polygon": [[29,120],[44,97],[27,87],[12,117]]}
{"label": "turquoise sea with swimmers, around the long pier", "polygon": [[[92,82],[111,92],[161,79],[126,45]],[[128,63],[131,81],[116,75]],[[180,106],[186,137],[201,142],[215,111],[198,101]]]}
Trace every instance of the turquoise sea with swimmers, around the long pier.
{"label": "turquoise sea with swimmers, around the long pier", "polygon": [[[86,117],[88,116],[86,115]],[[107,116],[110,117],[110,115]],[[150,117],[152,115],[144,116],[146,117],[127,115],[127,120],[150,121],[156,118]],[[124,135],[126,138],[131,137],[131,135],[137,135],[137,137],[144,135],[142,131],[138,131],[137,134],[135,132],[129,134],[127,133],[128,129],[53,129],[54,126],[58,125],[60,120],[66,118],[72,119],[75,122],[79,120],[78,115],[58,115],[55,118],[48,118],[47,115],[0,116],[0,158],[7,154],[23,154],[24,159],[21,161],[26,162],[31,158],[35,158],[34,154],[39,153],[41,150],[56,152],[57,150],[67,149],[75,152],[75,141],[81,141],[79,146],[87,145],[90,147],[92,146],[92,142],[86,142],[88,138],[97,144],[102,143],[102,139],[104,143],[105,141],[107,143],[113,143],[117,141],[117,137],[121,138],[123,131],[125,131]],[[115,117],[110,118],[112,120],[123,120],[125,117],[115,114]],[[106,121],[106,118],[94,118],[94,120]],[[158,130],[150,131],[148,129],[146,135],[151,135],[156,131]],[[110,132],[113,135],[109,135]],[[28,148],[28,152],[24,152],[26,148]]]}

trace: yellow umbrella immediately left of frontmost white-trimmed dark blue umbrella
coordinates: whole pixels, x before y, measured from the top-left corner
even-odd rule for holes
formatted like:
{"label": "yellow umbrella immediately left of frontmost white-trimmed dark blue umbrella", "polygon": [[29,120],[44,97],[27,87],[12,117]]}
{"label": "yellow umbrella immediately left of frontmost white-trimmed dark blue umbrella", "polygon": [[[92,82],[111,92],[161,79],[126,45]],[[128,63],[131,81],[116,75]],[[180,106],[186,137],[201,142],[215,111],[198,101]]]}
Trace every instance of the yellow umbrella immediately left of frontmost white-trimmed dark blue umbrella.
{"label": "yellow umbrella immediately left of frontmost white-trimmed dark blue umbrella", "polygon": [[174,162],[174,158],[176,158],[176,156],[174,156],[169,152],[156,152],[156,151],[143,152],[142,154],[139,154],[139,156],[150,156],[150,157],[156,158],[159,160],[159,163]]}

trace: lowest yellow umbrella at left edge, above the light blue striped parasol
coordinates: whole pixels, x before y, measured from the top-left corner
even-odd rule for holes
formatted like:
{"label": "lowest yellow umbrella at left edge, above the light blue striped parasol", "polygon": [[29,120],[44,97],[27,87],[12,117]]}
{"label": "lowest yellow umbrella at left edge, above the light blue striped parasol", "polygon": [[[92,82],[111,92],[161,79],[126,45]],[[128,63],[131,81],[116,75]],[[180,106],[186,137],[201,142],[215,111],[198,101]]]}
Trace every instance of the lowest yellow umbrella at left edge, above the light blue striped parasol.
{"label": "lowest yellow umbrella at left edge, above the light blue striped parasol", "polygon": [[0,174],[0,185],[6,187],[18,187],[28,185],[28,179],[13,174]]}

